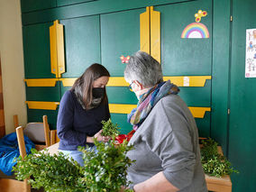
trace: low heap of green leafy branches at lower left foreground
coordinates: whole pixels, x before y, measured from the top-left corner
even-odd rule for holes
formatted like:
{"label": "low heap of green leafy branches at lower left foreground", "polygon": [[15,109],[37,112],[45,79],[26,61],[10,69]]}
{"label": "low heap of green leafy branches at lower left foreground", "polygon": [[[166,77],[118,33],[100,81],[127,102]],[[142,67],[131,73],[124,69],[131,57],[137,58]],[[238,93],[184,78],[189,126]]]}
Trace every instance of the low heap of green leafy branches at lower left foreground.
{"label": "low heap of green leafy branches at lower left foreground", "polygon": [[50,156],[47,151],[39,152],[32,149],[32,154],[21,157],[14,167],[16,178],[28,181],[34,188],[44,187],[46,191],[83,191],[85,187],[79,185],[83,177],[83,169],[75,160],[59,152],[59,155]]}

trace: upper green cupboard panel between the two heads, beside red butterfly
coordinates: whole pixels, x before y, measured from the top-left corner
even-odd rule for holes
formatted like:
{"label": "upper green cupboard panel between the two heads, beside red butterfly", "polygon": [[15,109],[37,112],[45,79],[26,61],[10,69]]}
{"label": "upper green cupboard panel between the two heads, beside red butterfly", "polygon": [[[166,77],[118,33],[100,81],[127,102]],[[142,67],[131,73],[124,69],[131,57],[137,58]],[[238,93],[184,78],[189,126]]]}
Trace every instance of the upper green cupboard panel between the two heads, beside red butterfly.
{"label": "upper green cupboard panel between the two heads, beside red butterfly", "polygon": [[126,57],[140,50],[140,14],[145,10],[101,15],[102,64],[111,76],[123,76],[122,55]]}

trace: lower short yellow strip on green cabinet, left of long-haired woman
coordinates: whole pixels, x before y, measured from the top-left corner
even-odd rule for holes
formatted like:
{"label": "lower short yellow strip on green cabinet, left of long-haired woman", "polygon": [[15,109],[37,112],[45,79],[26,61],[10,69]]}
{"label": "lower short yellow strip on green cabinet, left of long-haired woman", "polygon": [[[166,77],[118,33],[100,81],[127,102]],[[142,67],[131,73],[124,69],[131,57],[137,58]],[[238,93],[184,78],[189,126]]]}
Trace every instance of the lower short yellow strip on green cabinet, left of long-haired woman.
{"label": "lower short yellow strip on green cabinet, left of long-haired woman", "polygon": [[59,102],[26,101],[29,109],[56,110]]}

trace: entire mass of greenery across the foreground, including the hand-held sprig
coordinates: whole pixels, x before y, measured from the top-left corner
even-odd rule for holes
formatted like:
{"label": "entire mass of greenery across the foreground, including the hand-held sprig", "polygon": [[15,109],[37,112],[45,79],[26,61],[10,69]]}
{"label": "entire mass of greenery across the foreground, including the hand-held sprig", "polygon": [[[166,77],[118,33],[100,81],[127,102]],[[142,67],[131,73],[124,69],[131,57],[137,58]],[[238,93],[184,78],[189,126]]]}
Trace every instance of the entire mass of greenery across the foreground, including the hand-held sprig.
{"label": "entire mass of greenery across the foreground, including the hand-held sprig", "polygon": [[32,150],[32,154],[24,160],[20,157],[14,167],[16,178],[28,182],[34,188],[43,187],[45,191],[84,191],[84,192],[125,192],[130,182],[127,181],[127,169],[133,163],[126,153],[133,149],[128,142],[116,146],[114,137],[117,124],[111,120],[104,123],[106,136],[112,136],[109,142],[97,142],[97,151],[79,147],[83,152],[84,166],[78,165],[75,160],[59,152],[50,155],[48,151]]}

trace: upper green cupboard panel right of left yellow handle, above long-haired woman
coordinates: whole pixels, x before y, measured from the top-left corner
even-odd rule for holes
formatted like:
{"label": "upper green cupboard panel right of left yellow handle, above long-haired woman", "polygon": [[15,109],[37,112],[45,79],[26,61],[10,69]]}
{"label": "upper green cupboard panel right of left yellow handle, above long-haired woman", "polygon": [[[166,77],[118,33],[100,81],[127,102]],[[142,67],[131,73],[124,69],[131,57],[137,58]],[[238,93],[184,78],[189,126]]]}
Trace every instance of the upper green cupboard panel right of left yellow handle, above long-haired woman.
{"label": "upper green cupboard panel right of left yellow handle, above long-haired woman", "polygon": [[64,25],[66,73],[62,78],[77,78],[93,63],[100,63],[99,16],[60,21]]}

